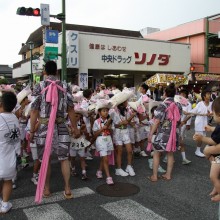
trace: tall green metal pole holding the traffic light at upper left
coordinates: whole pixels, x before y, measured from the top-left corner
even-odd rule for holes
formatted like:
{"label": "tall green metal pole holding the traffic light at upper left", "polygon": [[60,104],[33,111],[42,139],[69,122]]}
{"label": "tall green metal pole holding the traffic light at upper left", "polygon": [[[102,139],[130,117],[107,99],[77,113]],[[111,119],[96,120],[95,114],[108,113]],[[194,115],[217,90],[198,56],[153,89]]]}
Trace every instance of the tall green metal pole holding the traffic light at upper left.
{"label": "tall green metal pole holding the traffic light at upper left", "polygon": [[66,76],[66,9],[65,0],[62,0],[62,74],[61,80],[67,80]]}

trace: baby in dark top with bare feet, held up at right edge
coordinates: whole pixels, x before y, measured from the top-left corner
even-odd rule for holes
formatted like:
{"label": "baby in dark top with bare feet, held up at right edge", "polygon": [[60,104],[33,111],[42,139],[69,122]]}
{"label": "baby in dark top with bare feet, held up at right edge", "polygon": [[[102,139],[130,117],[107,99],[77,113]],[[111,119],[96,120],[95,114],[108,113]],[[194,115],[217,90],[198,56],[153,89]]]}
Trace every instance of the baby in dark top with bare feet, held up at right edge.
{"label": "baby in dark top with bare feet, held up at right edge", "polygon": [[[204,149],[204,154],[207,159],[211,162],[211,169],[210,169],[210,179],[213,182],[214,189],[210,193],[212,196],[211,200],[213,202],[220,201],[220,97],[216,98],[212,104],[213,116],[215,122],[217,122],[217,126],[211,127],[206,126],[207,131],[213,131],[211,137],[205,137],[201,134],[195,134],[193,139],[196,141],[204,142],[208,145]],[[214,145],[214,146],[213,146]]]}

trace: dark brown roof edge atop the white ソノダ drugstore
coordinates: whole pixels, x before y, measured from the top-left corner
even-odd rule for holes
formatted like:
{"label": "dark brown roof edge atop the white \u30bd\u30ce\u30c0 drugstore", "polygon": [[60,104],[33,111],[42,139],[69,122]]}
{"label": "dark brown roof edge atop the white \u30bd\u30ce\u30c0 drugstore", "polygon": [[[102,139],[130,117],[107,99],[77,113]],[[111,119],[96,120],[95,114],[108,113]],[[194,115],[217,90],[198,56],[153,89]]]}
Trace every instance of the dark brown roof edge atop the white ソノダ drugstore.
{"label": "dark brown roof edge atop the white \u30bd\u30ce\u30c0 drugstore", "polygon": [[[52,30],[58,30],[59,32],[62,32],[62,23],[50,22],[50,28]],[[35,47],[39,47],[43,45],[42,30],[43,30],[43,26],[39,27],[37,30],[35,30],[33,33],[30,34],[29,38],[26,41],[26,44],[23,45],[21,50],[19,51],[20,55],[29,50],[27,44],[30,41],[34,42]],[[129,31],[129,30],[120,30],[120,29],[76,25],[76,24],[66,24],[66,30],[143,38],[139,31]]]}

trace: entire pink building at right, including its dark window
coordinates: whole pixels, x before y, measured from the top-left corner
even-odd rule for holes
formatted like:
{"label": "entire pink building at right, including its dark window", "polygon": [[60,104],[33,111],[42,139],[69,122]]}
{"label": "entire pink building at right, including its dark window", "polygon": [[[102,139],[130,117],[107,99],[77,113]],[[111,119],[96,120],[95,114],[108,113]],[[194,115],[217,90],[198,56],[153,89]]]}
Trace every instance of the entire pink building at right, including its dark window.
{"label": "entire pink building at right, including its dark window", "polygon": [[[217,81],[220,74],[220,14],[147,34],[145,39],[191,45],[190,63],[194,81]],[[208,82],[207,81],[207,82]]]}

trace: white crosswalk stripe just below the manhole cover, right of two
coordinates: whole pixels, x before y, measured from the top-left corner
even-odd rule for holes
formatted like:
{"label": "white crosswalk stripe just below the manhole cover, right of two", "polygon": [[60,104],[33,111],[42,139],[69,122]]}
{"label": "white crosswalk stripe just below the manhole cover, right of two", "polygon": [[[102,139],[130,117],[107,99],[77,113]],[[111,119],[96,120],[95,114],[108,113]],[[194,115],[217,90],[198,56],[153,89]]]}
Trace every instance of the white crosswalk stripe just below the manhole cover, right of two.
{"label": "white crosswalk stripe just below the manhole cover, right of two", "polygon": [[131,199],[106,203],[101,207],[120,220],[166,220]]}

